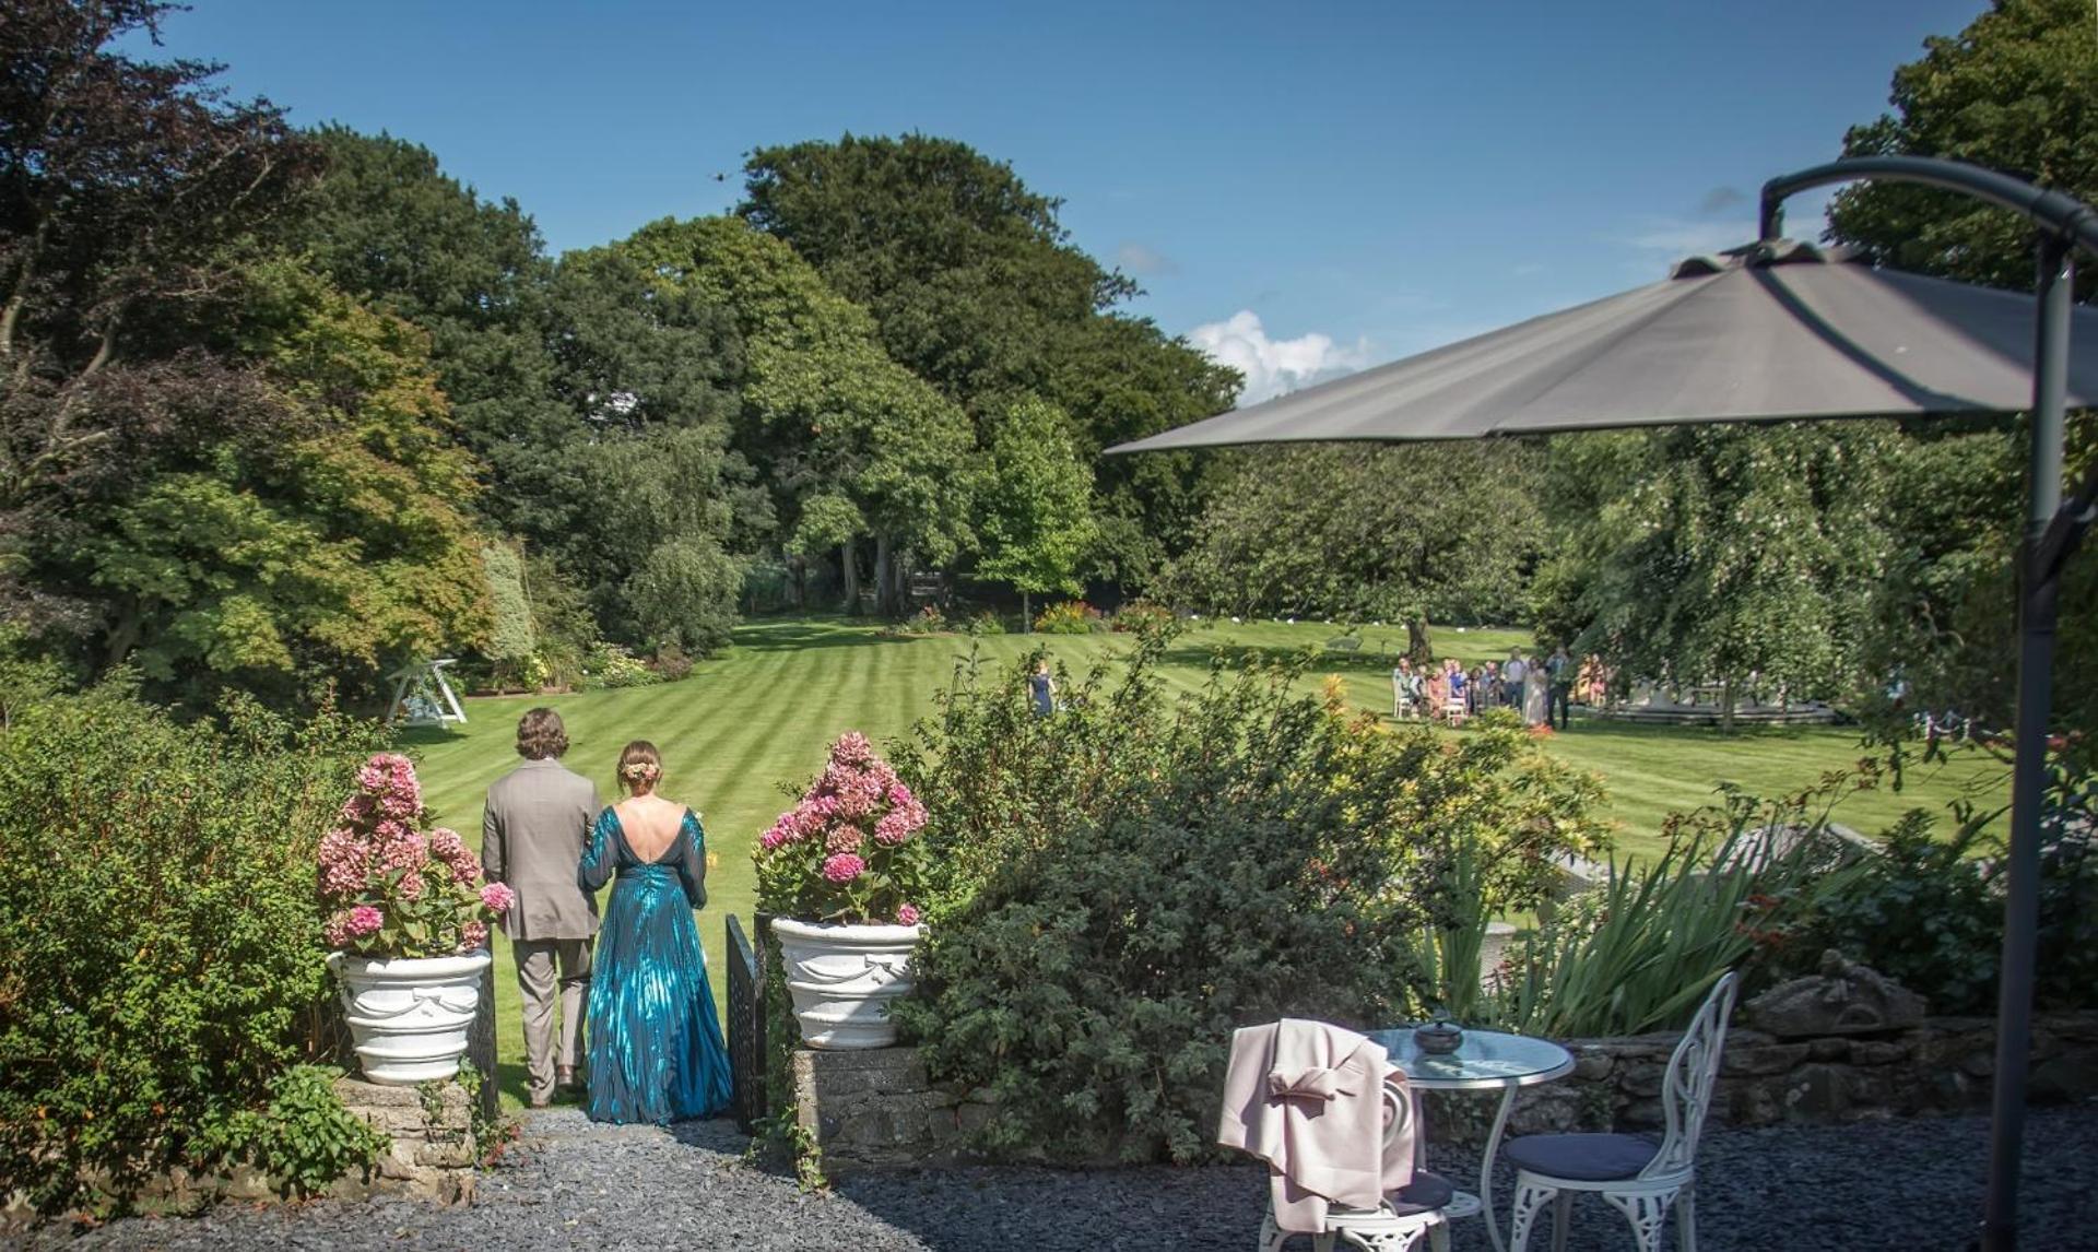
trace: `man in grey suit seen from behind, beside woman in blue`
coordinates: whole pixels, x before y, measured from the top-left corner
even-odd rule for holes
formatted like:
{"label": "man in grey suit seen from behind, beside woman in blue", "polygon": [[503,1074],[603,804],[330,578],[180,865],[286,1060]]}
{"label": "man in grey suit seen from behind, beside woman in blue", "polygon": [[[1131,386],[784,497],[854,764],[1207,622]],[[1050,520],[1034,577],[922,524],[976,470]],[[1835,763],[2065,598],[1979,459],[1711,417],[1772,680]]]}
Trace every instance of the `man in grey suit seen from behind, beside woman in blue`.
{"label": "man in grey suit seen from behind, beside woman in blue", "polygon": [[[583,839],[598,820],[598,786],[560,763],[569,736],[560,715],[533,709],[518,719],[524,763],[489,789],[480,816],[480,868],[518,893],[504,933],[524,994],[524,1067],[531,1107],[543,1109],[556,1086],[575,1086],[590,994],[590,942],[598,902],[577,885]],[[554,988],[560,986],[560,1057],[554,1057]]]}

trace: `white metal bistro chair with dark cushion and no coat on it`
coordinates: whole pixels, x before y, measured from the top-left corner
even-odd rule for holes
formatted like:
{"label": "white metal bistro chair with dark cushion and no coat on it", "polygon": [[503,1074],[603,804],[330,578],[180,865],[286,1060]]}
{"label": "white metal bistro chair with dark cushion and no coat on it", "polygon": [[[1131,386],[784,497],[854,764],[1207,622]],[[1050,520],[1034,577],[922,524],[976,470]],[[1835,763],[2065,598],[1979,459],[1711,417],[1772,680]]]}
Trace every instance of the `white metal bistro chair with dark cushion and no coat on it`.
{"label": "white metal bistro chair with dark cushion and no coat on it", "polygon": [[1697,1250],[1697,1132],[1712,1107],[1718,1053],[1727,1044],[1737,979],[1718,979],[1662,1076],[1668,1130],[1651,1135],[1525,1135],[1502,1153],[1517,1164],[1508,1252],[1525,1252],[1529,1231],[1553,1202],[1553,1252],[1563,1252],[1576,1191],[1594,1191],[1632,1223],[1641,1252],[1660,1252],[1668,1210],[1676,1212],[1676,1248]]}

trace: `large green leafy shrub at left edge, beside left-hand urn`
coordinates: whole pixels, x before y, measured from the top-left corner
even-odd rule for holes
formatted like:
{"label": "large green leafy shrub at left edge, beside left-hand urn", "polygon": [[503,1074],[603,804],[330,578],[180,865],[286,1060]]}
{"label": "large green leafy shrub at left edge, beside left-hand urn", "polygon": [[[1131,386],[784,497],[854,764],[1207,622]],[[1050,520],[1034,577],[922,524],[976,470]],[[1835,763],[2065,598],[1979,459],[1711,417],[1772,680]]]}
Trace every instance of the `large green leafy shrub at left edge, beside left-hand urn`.
{"label": "large green leafy shrub at left edge, beside left-hand urn", "polygon": [[168,1164],[300,1153],[250,1114],[287,1099],[329,996],[315,851],[371,747],[329,713],[292,728],[241,705],[214,730],[113,686],[15,711],[0,1193],[59,1210],[97,1172],[122,1204]]}

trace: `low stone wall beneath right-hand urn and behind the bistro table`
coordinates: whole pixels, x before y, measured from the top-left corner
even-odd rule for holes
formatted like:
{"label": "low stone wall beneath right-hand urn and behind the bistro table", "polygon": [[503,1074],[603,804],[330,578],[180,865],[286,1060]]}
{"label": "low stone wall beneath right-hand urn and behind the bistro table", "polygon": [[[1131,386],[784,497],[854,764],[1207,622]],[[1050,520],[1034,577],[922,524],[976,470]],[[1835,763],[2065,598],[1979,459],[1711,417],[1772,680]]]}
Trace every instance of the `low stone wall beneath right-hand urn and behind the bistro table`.
{"label": "low stone wall beneath right-hand urn and behind the bistro table", "polygon": [[[1574,1074],[1521,1093],[1513,1135],[1645,1130],[1662,1124],[1662,1070],[1680,1036],[1571,1040]],[[990,1120],[984,1091],[929,1082],[917,1049],[793,1055],[801,1130],[827,1172],[940,1166],[965,1158],[963,1139]],[[1995,1021],[1930,1017],[1876,1036],[1781,1040],[1727,1032],[1712,1118],[1733,1126],[1850,1122],[1966,1114],[1989,1105]],[[2098,1097],[2098,1013],[2041,1013],[2033,1021],[2035,1103]],[[1483,1139],[1492,1105],[1435,1101],[1439,1132]]]}

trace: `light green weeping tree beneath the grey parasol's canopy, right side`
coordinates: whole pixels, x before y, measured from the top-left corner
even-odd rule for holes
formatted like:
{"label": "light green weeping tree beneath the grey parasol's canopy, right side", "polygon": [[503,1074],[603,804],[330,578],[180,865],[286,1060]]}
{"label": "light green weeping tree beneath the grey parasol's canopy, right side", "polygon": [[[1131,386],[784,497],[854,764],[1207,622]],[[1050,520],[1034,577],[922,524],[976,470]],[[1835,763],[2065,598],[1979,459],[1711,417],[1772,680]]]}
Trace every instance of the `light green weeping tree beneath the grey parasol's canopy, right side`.
{"label": "light green weeping tree beneath the grey parasol's canopy, right side", "polygon": [[[1559,629],[1626,675],[1848,696],[1886,568],[1892,424],[1687,426],[1553,440]],[[1582,512],[1574,512],[1580,508]]]}

